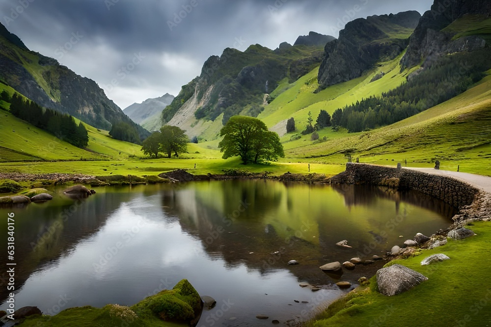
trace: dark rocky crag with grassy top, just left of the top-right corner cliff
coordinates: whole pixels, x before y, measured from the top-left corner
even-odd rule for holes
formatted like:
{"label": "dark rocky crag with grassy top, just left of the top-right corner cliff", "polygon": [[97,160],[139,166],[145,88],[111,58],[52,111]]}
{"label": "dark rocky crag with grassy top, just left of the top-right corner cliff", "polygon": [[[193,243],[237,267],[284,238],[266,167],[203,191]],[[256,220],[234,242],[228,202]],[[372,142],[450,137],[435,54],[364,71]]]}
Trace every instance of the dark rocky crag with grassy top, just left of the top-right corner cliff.
{"label": "dark rocky crag with grassy top, just left of the top-right corner cliff", "polygon": [[325,47],[318,75],[321,89],[359,77],[375,63],[397,57],[408,46],[420,18],[417,11],[407,11],[346,24],[339,39]]}

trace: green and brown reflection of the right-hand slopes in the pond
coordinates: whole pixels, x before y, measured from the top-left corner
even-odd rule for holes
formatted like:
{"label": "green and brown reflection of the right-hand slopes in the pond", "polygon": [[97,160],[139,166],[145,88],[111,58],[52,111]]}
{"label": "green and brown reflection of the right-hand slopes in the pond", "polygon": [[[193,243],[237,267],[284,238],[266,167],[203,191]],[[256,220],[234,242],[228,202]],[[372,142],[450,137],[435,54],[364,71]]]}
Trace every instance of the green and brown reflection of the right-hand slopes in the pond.
{"label": "green and brown reflection of the right-hand slopes in the pond", "polygon": [[[163,191],[162,204],[166,215],[178,217],[182,229],[198,238],[210,257],[222,258],[230,267],[246,264],[263,273],[288,268],[300,279],[321,283],[326,282],[326,276],[320,265],[355,256],[372,240],[368,231],[379,232],[400,207],[409,209],[412,221],[408,224],[418,231],[445,226],[438,214],[431,213],[428,223],[420,212],[424,211],[421,207],[437,213],[448,208],[418,196],[366,186],[334,190],[327,185],[233,180]],[[399,233],[394,231],[386,241],[398,242]],[[349,239],[353,249],[335,246],[343,239]],[[371,254],[380,254],[384,247],[381,244],[377,253]],[[293,259],[301,264],[288,266]]]}

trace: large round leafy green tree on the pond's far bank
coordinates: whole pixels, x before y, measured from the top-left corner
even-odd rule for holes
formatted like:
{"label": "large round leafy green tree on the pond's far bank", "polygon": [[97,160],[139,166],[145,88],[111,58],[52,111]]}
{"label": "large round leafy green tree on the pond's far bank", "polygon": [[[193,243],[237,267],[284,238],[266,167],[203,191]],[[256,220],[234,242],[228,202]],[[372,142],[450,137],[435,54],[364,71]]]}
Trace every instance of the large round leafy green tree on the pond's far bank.
{"label": "large round leafy green tree on the pond's far bank", "polygon": [[242,162],[259,163],[283,157],[283,146],[278,134],[257,118],[233,116],[220,131],[223,140],[219,143],[223,158],[240,156]]}

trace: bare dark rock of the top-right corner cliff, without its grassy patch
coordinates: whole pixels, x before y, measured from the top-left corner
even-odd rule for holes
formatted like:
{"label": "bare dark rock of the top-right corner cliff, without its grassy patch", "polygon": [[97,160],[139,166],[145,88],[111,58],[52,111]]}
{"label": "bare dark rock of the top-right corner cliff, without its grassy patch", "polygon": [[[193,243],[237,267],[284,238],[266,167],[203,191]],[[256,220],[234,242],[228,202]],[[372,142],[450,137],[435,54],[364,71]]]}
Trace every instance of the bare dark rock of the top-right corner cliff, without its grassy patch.
{"label": "bare dark rock of the top-right corner cliff, without its grassy patch", "polygon": [[409,47],[401,60],[402,68],[424,62],[431,63],[439,55],[456,51],[472,51],[486,45],[484,39],[469,35],[454,39],[456,32],[442,31],[464,15],[491,14],[489,0],[435,0],[431,10],[421,18],[409,40]]}

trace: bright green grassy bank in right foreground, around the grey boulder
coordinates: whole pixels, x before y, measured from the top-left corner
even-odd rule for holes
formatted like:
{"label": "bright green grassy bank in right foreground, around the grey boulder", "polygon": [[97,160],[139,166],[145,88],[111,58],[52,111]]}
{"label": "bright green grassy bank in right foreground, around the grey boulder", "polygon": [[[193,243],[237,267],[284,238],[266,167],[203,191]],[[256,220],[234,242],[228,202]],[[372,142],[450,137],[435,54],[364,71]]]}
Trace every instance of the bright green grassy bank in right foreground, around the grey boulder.
{"label": "bright green grassy bank in right foreground, around the grey boulder", "polygon": [[[490,326],[491,287],[487,276],[491,262],[486,258],[491,246],[491,223],[467,226],[477,236],[451,241],[434,250],[423,251],[405,260],[393,260],[428,280],[408,292],[385,297],[376,291],[376,278],[360,286],[308,323],[321,326]],[[436,253],[450,260],[421,266]],[[417,323],[419,322],[419,323]]]}

